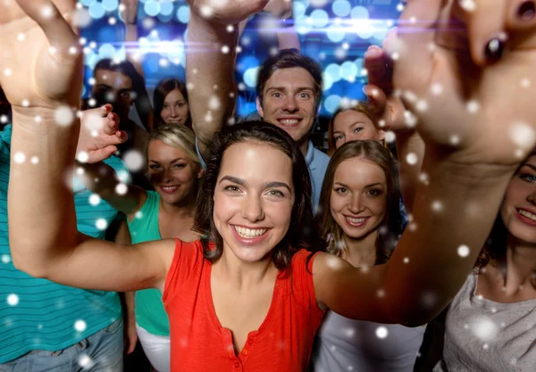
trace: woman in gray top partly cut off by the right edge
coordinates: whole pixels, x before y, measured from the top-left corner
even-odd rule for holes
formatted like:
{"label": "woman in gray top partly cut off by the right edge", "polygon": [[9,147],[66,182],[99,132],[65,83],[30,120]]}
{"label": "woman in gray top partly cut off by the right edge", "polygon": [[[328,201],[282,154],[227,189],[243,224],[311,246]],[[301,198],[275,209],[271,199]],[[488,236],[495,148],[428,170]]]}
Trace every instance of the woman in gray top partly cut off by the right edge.
{"label": "woman in gray top partly cut off by the right edge", "polygon": [[450,304],[443,357],[433,371],[534,371],[534,340],[536,153],[510,181],[475,273]]}

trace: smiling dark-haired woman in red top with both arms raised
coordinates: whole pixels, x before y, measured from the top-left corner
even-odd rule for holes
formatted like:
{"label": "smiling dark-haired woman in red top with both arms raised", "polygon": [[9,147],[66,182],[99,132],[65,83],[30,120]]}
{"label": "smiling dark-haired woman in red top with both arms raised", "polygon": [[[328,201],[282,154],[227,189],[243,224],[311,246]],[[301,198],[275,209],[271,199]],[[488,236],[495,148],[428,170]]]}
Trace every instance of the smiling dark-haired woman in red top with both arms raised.
{"label": "smiling dark-haired woman in red top with both arms raised", "polygon": [[[214,12],[213,21],[236,23],[266,3],[229,2]],[[210,146],[196,216],[205,240],[127,247],[78,233],[65,173],[74,164],[80,123],[66,107],[79,104],[83,63],[82,54],[67,47],[78,45],[78,37],[61,16],[74,10],[75,2],[11,3],[0,14],[0,67],[13,70],[0,74],[0,85],[13,105],[8,194],[13,264],[63,285],[162,290],[171,322],[173,371],[303,370],[322,310],[328,308],[378,323],[426,323],[463,285],[511,175],[536,142],[526,136],[534,125],[520,124],[536,116],[536,87],[519,84],[522,78],[536,80],[536,51],[523,44],[536,38],[536,27],[518,27],[511,17],[515,12],[506,12],[506,6],[478,1],[466,20],[472,53],[464,55],[471,58],[461,60],[458,49],[429,47],[436,27],[447,24],[436,20],[452,17],[442,4],[453,5],[408,2],[399,28],[406,48],[396,62],[396,87],[427,104],[427,110],[415,111],[425,135],[428,181],[416,192],[415,228],[404,233],[387,264],[363,269],[314,252],[314,242],[320,241],[308,223],[306,162],[289,135],[262,122],[225,129]],[[43,9],[50,16],[43,16]],[[405,33],[414,30],[409,20],[415,14],[431,21],[418,22],[425,32]],[[501,58],[505,41],[495,38],[482,45],[482,37],[503,27],[521,37],[508,39],[509,53]],[[18,41],[21,32],[24,47]],[[188,35],[196,32],[190,29]],[[480,79],[470,79],[475,75]],[[440,83],[440,99],[430,96],[431,84]],[[490,94],[496,89],[502,94]],[[476,113],[465,110],[468,93],[480,103]],[[192,118],[197,128],[197,117]],[[508,128],[512,118],[517,127]],[[72,124],[65,125],[67,120]],[[522,133],[523,141],[518,133],[512,141],[495,136],[505,128]],[[458,140],[452,141],[455,135]],[[462,245],[468,249],[458,255]]]}

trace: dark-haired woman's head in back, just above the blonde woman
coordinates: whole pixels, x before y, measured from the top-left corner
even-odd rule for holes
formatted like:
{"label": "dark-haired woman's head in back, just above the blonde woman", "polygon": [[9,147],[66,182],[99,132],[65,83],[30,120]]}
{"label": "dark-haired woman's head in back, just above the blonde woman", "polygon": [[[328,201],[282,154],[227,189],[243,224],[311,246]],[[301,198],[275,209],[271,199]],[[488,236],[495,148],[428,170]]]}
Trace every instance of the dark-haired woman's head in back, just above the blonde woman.
{"label": "dark-haired woman's head in back, just above the blonde woman", "polygon": [[184,125],[192,128],[188,112],[188,92],[179,79],[163,79],[155,87],[155,127],[162,124]]}

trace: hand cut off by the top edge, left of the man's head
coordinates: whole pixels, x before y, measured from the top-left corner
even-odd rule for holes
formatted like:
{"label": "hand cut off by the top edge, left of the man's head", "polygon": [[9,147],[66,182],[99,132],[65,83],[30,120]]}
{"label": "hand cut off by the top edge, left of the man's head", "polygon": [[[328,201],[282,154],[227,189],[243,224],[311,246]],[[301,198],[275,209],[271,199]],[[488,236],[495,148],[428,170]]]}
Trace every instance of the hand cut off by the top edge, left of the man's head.
{"label": "hand cut off by the top edge, left of the man's head", "polygon": [[187,0],[190,10],[222,24],[239,24],[261,12],[269,0]]}

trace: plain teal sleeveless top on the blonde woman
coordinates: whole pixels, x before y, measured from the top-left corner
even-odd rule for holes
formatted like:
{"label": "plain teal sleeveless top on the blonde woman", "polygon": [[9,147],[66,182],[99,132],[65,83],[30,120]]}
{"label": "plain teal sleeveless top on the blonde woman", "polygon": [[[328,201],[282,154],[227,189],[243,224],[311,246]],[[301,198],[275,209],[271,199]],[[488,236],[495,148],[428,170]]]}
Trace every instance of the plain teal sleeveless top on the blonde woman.
{"label": "plain teal sleeveless top on the blonde woman", "polygon": [[[129,221],[132,244],[160,240],[158,227],[158,209],[160,195],[155,191],[147,191],[147,200],[136,217]],[[162,293],[158,289],[137,291],[135,297],[136,322],[153,335],[170,335],[170,322],[163,309]]]}

